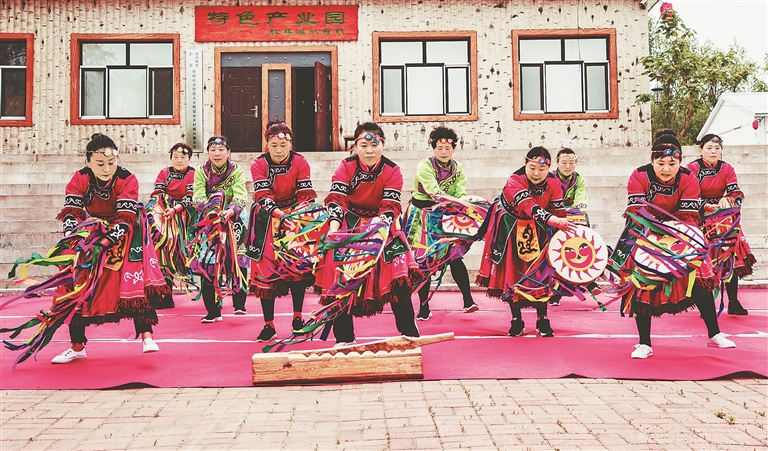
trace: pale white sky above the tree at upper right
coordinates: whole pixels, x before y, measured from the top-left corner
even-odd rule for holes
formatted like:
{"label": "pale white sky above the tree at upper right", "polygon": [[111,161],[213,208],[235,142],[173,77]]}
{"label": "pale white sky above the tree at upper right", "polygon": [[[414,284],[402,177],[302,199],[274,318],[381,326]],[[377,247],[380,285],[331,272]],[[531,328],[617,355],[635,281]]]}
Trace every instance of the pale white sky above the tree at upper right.
{"label": "pale white sky above the tree at upper right", "polygon": [[[666,0],[683,22],[723,50],[734,42],[747,56],[762,64],[768,52],[768,0]],[[663,0],[654,5],[650,14],[659,17]]]}

